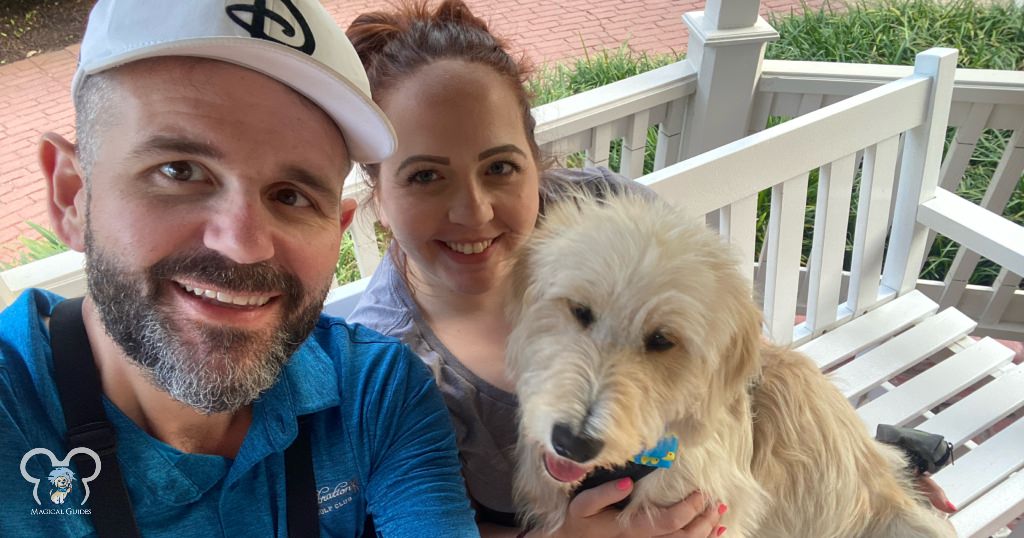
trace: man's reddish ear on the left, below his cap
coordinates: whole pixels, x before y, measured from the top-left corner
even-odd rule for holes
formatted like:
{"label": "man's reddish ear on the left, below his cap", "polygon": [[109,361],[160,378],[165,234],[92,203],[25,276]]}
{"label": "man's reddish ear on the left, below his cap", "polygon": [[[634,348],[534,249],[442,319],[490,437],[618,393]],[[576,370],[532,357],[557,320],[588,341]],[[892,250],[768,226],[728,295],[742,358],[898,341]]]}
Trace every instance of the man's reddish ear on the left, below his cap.
{"label": "man's reddish ear on the left, below his cap", "polygon": [[85,251],[85,177],[75,144],[53,132],[43,134],[39,167],[46,178],[46,209],[53,232],[72,249]]}

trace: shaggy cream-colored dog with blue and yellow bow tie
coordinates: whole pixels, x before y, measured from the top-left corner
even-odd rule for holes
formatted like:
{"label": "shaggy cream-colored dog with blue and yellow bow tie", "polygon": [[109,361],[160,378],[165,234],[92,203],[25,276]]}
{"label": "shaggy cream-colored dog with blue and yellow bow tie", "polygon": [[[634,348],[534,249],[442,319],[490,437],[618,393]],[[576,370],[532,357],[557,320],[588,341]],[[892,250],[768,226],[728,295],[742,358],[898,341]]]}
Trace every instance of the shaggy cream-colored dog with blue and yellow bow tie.
{"label": "shaggy cream-colored dog with blue and yellow bow tie", "polygon": [[547,208],[508,346],[527,523],[557,529],[585,475],[675,434],[675,463],[636,483],[622,522],[700,490],[733,537],[955,536],[817,367],[762,339],[738,263],[663,202]]}

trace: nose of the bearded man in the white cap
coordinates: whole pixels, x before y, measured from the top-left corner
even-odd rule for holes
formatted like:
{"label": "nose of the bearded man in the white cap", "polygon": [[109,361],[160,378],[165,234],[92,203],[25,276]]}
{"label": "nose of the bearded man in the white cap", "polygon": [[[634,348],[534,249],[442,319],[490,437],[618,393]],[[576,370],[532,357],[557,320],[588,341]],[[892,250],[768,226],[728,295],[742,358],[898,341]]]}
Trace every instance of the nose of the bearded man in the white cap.
{"label": "nose of the bearded man in the white cap", "polygon": [[238,263],[256,263],[273,257],[271,215],[261,200],[225,197],[212,211],[203,243]]}

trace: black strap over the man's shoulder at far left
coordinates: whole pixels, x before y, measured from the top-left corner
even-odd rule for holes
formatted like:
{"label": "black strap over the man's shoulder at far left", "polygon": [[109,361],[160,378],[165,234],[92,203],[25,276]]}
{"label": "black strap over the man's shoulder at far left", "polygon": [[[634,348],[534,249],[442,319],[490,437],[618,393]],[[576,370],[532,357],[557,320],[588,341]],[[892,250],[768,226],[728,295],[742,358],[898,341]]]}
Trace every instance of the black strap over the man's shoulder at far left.
{"label": "black strap over the man's shoulder at far left", "polygon": [[[138,527],[128,497],[128,488],[117,458],[117,434],[106,420],[101,399],[99,371],[82,321],[82,299],[57,304],[50,317],[53,378],[68,425],[68,450],[86,447],[99,455],[100,472],[89,483],[92,524],[102,537],[137,537]],[[95,462],[84,454],[75,456],[82,477],[95,471]]]}

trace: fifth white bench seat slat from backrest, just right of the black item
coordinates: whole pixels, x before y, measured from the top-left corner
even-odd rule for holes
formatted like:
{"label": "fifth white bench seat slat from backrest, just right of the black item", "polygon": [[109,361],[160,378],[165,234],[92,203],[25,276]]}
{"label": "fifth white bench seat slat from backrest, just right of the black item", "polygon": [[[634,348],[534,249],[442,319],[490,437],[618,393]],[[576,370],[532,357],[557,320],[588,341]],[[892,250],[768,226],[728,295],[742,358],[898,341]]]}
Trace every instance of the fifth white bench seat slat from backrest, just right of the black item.
{"label": "fifth white bench seat slat from backrest, just right of the black item", "polygon": [[933,479],[955,506],[985,493],[1024,465],[1024,420],[1018,420],[966,456],[935,473]]}

